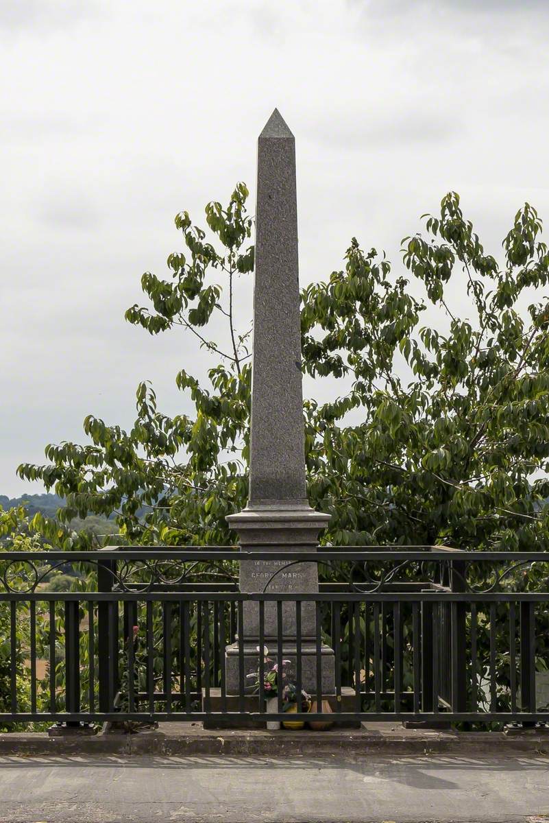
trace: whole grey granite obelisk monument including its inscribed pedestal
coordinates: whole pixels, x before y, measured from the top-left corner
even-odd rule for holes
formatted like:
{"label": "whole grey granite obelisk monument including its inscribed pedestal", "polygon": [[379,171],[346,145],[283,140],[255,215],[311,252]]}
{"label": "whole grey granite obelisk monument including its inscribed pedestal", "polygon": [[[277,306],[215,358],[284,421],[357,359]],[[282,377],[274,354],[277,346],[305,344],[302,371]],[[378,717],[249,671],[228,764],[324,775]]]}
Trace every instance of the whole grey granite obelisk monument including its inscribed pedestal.
{"label": "whole grey granite obelisk monument including its inscribed pedestal", "polygon": [[[253,301],[250,491],[247,508],[228,517],[242,547],[315,551],[330,515],[307,500],[302,407],[298,210],[295,140],[274,109],[257,151],[256,270]],[[277,574],[278,572],[278,574]],[[273,578],[273,575],[276,576]],[[315,563],[243,560],[242,592],[315,593]],[[246,670],[257,668],[258,607],[244,603]],[[284,603],[284,654],[295,658],[295,605]],[[277,634],[274,603],[265,605],[265,642]],[[314,688],[314,604],[302,607],[303,687]],[[227,688],[238,690],[237,647],[227,649]],[[334,690],[333,653],[323,648],[325,694]]]}

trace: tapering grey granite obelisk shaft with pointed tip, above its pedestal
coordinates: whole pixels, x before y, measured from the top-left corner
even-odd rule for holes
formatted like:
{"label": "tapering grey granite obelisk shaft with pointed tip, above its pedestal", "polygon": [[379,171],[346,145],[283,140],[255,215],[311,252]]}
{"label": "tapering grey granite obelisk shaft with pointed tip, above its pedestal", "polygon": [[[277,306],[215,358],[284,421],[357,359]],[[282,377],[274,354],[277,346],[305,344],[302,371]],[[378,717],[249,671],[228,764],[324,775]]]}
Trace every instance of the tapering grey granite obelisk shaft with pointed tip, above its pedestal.
{"label": "tapering grey granite obelisk shaft with pointed tip, above its pedestal", "polygon": [[295,140],[277,109],[257,152],[249,507],[307,503]]}

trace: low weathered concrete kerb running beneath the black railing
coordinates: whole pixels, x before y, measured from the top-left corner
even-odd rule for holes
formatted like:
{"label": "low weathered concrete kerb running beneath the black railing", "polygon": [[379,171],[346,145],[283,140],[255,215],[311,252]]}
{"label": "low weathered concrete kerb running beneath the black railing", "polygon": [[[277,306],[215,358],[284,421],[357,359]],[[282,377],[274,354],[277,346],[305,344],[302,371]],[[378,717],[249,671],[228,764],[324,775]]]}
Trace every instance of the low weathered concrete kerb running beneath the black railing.
{"label": "low weathered concrete kerb running beneath the black railing", "polygon": [[367,723],[357,730],[268,732],[210,731],[201,723],[163,723],[158,729],[107,732],[94,737],[48,737],[47,733],[0,735],[0,756],[538,756],[549,754],[549,735],[524,732],[435,732],[396,723]]}

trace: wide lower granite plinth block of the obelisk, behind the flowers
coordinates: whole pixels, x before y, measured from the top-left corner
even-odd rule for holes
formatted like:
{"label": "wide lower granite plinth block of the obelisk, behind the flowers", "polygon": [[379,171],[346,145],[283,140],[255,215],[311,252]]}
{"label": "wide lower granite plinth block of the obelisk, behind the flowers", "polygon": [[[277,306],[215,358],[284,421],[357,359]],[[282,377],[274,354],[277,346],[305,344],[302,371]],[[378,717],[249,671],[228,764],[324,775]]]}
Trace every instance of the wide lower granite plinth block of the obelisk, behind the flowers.
{"label": "wide lower granite plinth block of the obelisk, behind the flowers", "polygon": [[[265,639],[265,644],[268,645],[268,640]],[[276,663],[278,652],[275,644],[271,644],[270,658],[273,663]],[[225,649],[225,683],[228,695],[239,695],[243,688],[250,688],[253,686],[249,674],[255,674],[259,671],[259,654],[257,651],[257,644],[244,644],[244,682],[240,682],[240,660],[238,655],[238,643],[233,643]],[[285,640],[282,647],[282,658],[288,660],[284,666],[284,671],[288,680],[296,681],[296,661],[298,656],[298,649],[295,642],[292,640]],[[316,645],[311,643],[302,643],[301,647],[301,670],[302,670],[302,689],[309,693],[316,693]],[[321,690],[323,695],[334,695],[335,693],[335,658],[334,650],[330,646],[321,646]],[[265,672],[273,665],[273,663],[265,663]]]}

